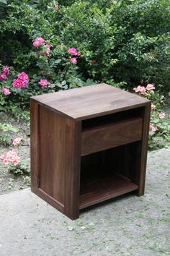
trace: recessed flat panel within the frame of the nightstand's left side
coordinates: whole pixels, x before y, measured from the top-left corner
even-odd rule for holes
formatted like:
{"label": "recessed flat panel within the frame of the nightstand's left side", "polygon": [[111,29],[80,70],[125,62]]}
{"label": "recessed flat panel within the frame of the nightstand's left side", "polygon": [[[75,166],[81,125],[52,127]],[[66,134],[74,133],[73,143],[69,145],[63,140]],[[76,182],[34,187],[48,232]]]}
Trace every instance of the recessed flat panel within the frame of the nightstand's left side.
{"label": "recessed flat panel within the frame of the nightstand's left side", "polygon": [[64,204],[64,118],[40,106],[40,188]]}

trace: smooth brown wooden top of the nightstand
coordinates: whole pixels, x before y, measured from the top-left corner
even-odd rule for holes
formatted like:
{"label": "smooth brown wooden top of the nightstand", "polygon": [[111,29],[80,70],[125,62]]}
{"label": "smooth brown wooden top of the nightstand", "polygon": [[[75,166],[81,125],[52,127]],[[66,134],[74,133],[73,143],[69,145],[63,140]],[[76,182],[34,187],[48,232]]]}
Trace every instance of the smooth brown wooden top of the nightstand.
{"label": "smooth brown wooden top of the nightstand", "polygon": [[150,103],[135,93],[128,93],[104,83],[45,93],[31,99],[75,121],[126,111]]}

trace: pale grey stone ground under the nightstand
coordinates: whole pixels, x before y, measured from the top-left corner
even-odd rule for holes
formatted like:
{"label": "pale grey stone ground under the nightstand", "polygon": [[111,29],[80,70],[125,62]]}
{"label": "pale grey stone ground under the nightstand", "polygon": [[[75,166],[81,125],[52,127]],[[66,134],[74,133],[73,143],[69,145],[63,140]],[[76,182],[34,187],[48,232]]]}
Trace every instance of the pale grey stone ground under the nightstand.
{"label": "pale grey stone ground under the nightstand", "polygon": [[123,196],[71,221],[24,189],[0,196],[1,256],[170,255],[170,148],[148,155],[146,195]]}

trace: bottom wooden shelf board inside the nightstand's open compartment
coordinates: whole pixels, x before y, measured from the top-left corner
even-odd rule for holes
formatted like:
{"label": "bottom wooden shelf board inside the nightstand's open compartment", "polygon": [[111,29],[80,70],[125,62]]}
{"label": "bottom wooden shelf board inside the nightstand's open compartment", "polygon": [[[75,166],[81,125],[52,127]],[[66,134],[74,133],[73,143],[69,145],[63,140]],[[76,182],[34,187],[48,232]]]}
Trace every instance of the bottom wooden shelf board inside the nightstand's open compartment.
{"label": "bottom wooden shelf board inside the nightstand's open compartment", "polygon": [[79,209],[138,189],[138,185],[118,174],[81,182]]}

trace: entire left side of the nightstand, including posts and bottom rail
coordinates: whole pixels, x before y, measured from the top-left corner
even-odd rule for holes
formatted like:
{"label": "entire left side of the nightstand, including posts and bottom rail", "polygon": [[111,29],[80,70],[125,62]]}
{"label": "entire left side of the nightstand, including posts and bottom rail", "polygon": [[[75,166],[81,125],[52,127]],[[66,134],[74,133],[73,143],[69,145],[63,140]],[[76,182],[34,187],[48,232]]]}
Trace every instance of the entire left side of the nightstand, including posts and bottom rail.
{"label": "entire left side of the nightstand, including posts and bottom rail", "polygon": [[32,192],[71,219],[79,216],[81,123],[31,103]]}

